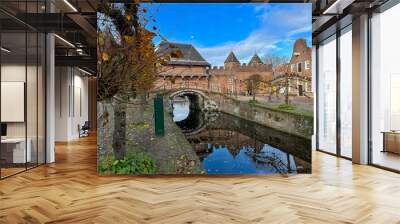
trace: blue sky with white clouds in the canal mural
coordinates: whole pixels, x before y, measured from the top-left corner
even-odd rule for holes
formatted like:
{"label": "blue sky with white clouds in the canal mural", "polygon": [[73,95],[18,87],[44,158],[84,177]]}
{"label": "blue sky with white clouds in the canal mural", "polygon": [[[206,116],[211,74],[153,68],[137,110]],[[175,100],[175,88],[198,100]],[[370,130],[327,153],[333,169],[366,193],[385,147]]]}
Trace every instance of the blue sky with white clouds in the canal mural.
{"label": "blue sky with white clouds in the canal mural", "polygon": [[143,7],[154,15],[162,36],[193,44],[212,65],[223,65],[230,51],[247,63],[254,53],[290,57],[297,38],[311,45],[311,4],[153,3]]}

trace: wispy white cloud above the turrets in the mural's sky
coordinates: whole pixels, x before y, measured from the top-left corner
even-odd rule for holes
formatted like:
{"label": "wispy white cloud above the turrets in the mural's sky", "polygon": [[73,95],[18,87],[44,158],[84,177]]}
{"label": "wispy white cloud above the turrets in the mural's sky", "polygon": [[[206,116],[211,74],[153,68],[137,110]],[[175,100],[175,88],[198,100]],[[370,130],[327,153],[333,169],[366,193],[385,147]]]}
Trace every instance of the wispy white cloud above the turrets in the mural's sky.
{"label": "wispy white cloud above the turrets in the mural's sky", "polygon": [[197,46],[200,53],[212,65],[221,66],[230,51],[235,52],[242,63],[247,63],[254,53],[263,56],[281,50],[279,45],[294,42],[293,36],[311,31],[311,6],[307,4],[260,4],[254,8],[261,26],[238,42],[226,42],[218,46]]}

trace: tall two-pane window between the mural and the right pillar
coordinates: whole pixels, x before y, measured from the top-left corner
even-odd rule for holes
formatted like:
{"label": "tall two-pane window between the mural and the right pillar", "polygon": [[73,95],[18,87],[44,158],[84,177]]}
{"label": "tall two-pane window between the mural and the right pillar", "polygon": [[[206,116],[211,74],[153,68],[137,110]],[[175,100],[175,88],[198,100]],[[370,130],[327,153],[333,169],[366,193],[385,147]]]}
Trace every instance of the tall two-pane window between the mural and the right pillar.
{"label": "tall two-pane window between the mural and the right pillar", "polygon": [[[348,26],[341,30],[340,37],[333,35],[323,41],[318,48],[317,61],[318,149],[346,158],[352,157],[351,28]],[[337,49],[337,44],[340,49]],[[338,53],[339,61],[336,58]],[[336,69],[337,63],[340,63],[339,71]],[[307,64],[310,64],[310,61],[307,61]],[[340,92],[337,92],[338,87]],[[340,122],[338,126],[337,122]]]}

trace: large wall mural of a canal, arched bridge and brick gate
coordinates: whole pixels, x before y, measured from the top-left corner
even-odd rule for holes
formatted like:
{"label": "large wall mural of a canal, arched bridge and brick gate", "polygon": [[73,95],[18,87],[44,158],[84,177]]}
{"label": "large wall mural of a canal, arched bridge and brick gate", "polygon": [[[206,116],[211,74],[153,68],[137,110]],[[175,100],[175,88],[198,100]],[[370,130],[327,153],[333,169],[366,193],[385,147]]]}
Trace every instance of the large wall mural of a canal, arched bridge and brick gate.
{"label": "large wall mural of a canal, arched bridge and brick gate", "polygon": [[98,172],[311,173],[311,4],[98,12]]}

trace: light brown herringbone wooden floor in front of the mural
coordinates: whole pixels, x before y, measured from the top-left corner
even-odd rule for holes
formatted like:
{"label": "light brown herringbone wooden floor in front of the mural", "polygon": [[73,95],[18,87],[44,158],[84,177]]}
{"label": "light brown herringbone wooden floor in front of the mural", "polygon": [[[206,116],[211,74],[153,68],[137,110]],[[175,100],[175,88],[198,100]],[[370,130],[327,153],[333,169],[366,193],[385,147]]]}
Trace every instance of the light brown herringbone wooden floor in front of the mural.
{"label": "light brown herringbone wooden floor in front of the mural", "polygon": [[94,138],[0,181],[0,223],[400,223],[400,175],[313,153],[313,174],[99,177]]}

